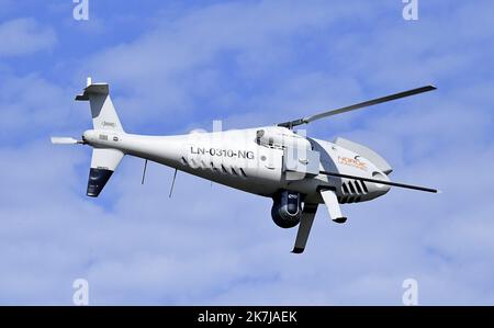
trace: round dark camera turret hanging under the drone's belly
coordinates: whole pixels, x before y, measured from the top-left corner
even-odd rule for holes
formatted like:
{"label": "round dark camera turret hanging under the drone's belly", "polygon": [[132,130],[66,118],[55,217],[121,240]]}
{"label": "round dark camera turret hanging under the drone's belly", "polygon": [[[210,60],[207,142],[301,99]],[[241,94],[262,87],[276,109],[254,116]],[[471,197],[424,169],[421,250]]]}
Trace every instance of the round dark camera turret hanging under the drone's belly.
{"label": "round dark camera turret hanging under the drone's belly", "polygon": [[281,228],[293,228],[302,216],[302,195],[297,192],[283,190],[273,197],[271,217]]}

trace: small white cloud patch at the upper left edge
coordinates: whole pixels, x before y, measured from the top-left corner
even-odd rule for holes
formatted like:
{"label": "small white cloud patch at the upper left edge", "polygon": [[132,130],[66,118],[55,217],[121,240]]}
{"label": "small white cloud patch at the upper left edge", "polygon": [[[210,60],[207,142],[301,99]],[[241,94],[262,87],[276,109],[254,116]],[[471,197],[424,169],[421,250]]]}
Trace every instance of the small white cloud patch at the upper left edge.
{"label": "small white cloud patch at the upper left edge", "polygon": [[0,24],[0,57],[12,57],[50,49],[57,37],[34,19],[15,19]]}

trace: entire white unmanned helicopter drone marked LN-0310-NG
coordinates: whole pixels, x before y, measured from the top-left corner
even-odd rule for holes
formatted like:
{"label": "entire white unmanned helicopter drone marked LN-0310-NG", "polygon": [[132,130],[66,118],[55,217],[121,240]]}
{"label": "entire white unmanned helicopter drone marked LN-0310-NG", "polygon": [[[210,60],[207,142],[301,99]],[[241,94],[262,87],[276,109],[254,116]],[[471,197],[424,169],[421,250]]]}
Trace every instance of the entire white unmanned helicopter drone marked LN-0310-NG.
{"label": "entire white unmanned helicopter drone marked LN-0310-NG", "polygon": [[[311,231],[318,204],[326,204],[330,218],[346,222],[339,204],[359,203],[385,194],[390,186],[437,193],[436,189],[391,182],[390,165],[375,151],[357,143],[336,138],[333,143],[305,137],[293,127],[327,116],[435,90],[426,86],[350,106],[326,111],[295,121],[246,129],[146,136],[124,132],[109,93],[108,83],[88,78],[83,93],[89,101],[93,129],[81,140],[52,137],[53,144],[93,147],[87,195],[97,197],[124,155],[184,171],[249,193],[272,197],[271,216],[282,228],[299,225],[293,248],[301,253]],[[170,190],[171,195],[171,190]]]}

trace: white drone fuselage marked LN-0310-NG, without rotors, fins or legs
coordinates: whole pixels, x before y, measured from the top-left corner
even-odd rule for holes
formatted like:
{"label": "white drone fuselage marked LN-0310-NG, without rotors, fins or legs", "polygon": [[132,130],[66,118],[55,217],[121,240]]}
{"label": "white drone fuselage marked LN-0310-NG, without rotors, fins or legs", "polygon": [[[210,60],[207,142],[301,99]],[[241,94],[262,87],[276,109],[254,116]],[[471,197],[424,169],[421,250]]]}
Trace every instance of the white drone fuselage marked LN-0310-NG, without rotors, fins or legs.
{"label": "white drone fuselage marked LN-0310-NG, without rotors, fins or legs", "polygon": [[262,196],[289,190],[313,203],[324,203],[318,191],[330,189],[339,203],[357,203],[381,196],[390,189],[380,183],[322,174],[336,171],[389,181],[384,172],[360,154],[280,126],[177,136],[90,129],[85,132],[83,142]]}

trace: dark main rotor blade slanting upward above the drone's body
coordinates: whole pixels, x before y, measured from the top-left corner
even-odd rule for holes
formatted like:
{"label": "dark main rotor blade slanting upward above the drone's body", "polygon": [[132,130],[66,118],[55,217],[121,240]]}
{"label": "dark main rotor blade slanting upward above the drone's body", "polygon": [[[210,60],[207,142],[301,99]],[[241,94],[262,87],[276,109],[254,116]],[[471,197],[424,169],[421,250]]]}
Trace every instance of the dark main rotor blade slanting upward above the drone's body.
{"label": "dark main rotor blade slanting upward above the drone's body", "polygon": [[423,92],[428,92],[428,91],[433,91],[433,90],[436,90],[436,89],[437,89],[436,87],[429,84],[429,86],[425,86],[425,87],[422,87],[422,88],[416,88],[416,89],[412,89],[412,90],[407,90],[407,91],[403,91],[403,92],[398,92],[398,93],[394,93],[394,94],[390,94],[390,95],[385,95],[385,97],[368,100],[368,101],[360,102],[360,103],[357,103],[357,104],[352,104],[352,105],[349,105],[349,106],[345,106],[345,108],[340,108],[340,109],[323,112],[323,113],[315,114],[315,115],[312,115],[312,116],[306,116],[306,117],[303,117],[303,118],[280,123],[280,124],[278,124],[278,126],[292,127],[292,126],[296,126],[296,125],[301,125],[301,124],[306,124],[306,123],[311,123],[313,121],[316,121],[316,120],[319,120],[319,118],[324,118],[324,117],[327,117],[327,116],[333,116],[333,115],[337,115],[337,114],[341,114],[341,113],[359,110],[359,109],[362,109],[362,108],[372,106],[372,105],[375,105],[375,104],[379,104],[379,103],[383,103],[383,102],[386,102],[386,101],[392,101],[392,100],[396,100],[396,99],[400,99],[400,98],[405,98],[405,97],[409,97],[409,95],[414,95],[414,94],[418,94],[418,93],[423,93]]}

